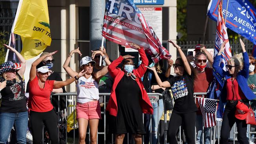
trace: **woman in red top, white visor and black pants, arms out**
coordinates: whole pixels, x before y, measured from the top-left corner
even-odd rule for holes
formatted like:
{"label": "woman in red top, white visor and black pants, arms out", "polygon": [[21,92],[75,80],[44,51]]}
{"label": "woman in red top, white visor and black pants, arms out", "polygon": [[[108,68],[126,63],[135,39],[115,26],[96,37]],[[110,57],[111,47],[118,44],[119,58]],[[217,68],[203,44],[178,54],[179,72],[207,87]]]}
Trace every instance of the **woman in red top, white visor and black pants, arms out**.
{"label": "woman in red top, white visor and black pants, arms out", "polygon": [[50,102],[50,95],[53,89],[59,89],[85,74],[82,70],[79,74],[66,81],[46,80],[49,68],[43,65],[42,61],[55,52],[39,57],[32,63],[30,69],[30,89],[28,108],[30,109],[30,127],[32,130],[33,144],[40,144],[42,141],[43,126],[45,124],[52,144],[58,144],[58,117]]}

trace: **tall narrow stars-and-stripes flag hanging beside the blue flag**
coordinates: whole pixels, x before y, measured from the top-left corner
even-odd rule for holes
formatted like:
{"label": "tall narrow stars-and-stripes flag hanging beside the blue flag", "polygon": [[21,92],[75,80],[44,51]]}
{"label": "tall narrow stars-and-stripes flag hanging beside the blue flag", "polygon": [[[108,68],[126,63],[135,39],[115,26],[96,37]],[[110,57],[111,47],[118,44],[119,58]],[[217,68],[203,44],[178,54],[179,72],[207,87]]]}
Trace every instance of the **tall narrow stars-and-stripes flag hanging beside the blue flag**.
{"label": "tall narrow stars-and-stripes flag hanging beside the blue flag", "polygon": [[[216,27],[216,38],[215,38],[215,48],[214,57],[218,54],[219,49],[223,41],[228,41],[228,33],[226,30],[225,21],[222,14],[222,0],[219,2],[217,27]],[[225,50],[221,54],[220,66],[226,71],[226,64],[228,59],[232,57],[229,41],[225,44]]]}

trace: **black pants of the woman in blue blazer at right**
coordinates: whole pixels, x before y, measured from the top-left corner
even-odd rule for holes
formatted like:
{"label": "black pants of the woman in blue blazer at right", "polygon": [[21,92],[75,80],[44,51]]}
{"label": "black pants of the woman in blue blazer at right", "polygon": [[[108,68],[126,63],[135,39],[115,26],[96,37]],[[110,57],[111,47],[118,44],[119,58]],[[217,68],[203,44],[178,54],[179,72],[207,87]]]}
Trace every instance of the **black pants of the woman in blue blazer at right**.
{"label": "black pants of the woman in blue blazer at right", "polygon": [[[235,103],[227,103],[225,107],[225,111],[223,114],[222,125],[221,125],[221,144],[228,144],[228,137],[230,135],[230,130],[236,122],[237,126],[237,140],[240,144],[249,144],[249,141],[246,137],[247,124],[245,120],[239,120],[235,117],[236,113],[236,104]],[[249,103],[245,103],[247,106]]]}

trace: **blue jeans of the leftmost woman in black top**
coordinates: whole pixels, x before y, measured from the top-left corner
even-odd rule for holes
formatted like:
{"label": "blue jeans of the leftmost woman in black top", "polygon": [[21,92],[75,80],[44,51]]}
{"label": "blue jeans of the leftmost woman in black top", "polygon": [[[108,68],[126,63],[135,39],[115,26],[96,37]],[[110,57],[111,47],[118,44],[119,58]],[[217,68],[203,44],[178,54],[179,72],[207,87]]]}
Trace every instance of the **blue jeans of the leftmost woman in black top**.
{"label": "blue jeans of the leftmost woman in black top", "polygon": [[26,144],[28,112],[0,113],[0,144],[5,144],[15,124],[17,143]]}

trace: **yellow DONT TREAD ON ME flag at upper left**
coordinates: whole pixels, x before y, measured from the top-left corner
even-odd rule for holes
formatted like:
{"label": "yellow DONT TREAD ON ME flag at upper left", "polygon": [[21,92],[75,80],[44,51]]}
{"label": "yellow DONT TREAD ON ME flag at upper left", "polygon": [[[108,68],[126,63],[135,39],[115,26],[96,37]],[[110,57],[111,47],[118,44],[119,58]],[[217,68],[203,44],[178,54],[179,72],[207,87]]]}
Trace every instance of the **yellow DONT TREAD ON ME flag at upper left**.
{"label": "yellow DONT TREAD ON ME flag at upper left", "polygon": [[47,0],[20,0],[13,33],[22,39],[21,54],[30,59],[51,44]]}

